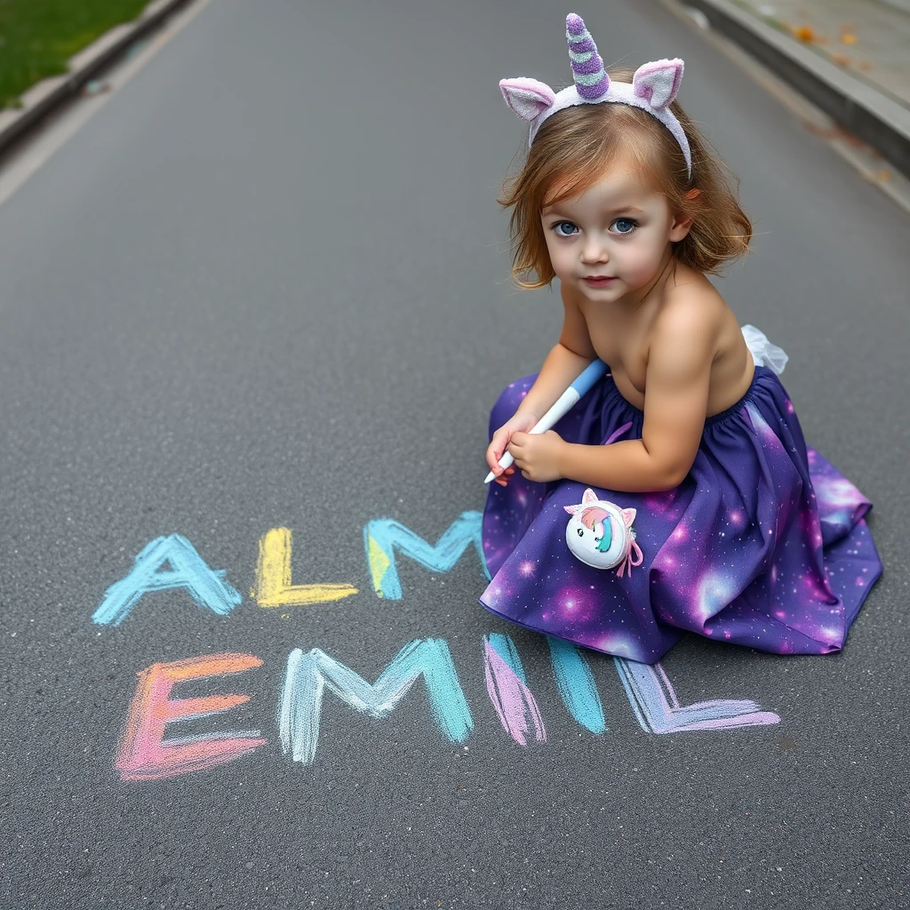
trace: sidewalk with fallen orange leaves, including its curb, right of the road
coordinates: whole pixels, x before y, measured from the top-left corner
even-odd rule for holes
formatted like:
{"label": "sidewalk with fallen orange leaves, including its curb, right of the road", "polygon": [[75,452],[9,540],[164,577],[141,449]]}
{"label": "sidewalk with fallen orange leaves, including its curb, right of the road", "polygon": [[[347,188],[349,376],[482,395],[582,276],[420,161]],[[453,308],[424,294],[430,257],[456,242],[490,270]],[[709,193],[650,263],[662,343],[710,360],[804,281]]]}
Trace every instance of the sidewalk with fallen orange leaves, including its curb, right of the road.
{"label": "sidewalk with fallen orange leaves, including its curb, right of the road", "polygon": [[910,177],[910,0],[679,0]]}

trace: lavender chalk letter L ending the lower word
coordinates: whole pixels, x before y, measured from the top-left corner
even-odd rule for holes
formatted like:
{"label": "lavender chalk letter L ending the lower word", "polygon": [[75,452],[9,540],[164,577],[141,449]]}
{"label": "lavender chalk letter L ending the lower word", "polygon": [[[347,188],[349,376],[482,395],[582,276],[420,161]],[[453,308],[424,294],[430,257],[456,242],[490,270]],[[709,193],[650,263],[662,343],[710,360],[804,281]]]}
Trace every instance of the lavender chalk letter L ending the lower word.
{"label": "lavender chalk letter L ending the lower word", "polygon": [[759,705],[748,700],[718,698],[683,706],[660,663],[650,666],[622,657],[614,657],[613,663],[638,723],[646,733],[682,733],[685,730],[780,723],[777,714],[760,711]]}

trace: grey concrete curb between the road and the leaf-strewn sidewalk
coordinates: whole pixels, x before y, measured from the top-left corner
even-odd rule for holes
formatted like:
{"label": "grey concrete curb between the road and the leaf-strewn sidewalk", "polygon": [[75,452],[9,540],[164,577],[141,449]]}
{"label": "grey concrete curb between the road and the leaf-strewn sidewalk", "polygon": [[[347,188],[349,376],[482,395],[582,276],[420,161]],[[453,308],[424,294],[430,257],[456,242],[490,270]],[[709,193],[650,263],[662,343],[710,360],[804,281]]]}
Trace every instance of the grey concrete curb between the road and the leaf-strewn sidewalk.
{"label": "grey concrete curb between the road and the leaf-strewn sidewalk", "polygon": [[910,177],[910,110],[730,0],[682,0]]}

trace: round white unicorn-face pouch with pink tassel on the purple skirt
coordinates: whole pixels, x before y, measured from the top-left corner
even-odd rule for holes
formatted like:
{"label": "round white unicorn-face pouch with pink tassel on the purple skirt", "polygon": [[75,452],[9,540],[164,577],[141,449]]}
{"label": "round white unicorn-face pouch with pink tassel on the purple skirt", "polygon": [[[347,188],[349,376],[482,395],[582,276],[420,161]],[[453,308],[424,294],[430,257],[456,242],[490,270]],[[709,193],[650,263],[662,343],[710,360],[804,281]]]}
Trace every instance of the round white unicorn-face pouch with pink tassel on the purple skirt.
{"label": "round white unicorn-face pouch with pink tassel on the purple skirt", "polygon": [[576,559],[594,569],[619,566],[616,574],[620,578],[625,571],[631,576],[632,566],[642,564],[642,550],[632,531],[634,509],[621,509],[615,502],[599,500],[590,487],[578,505],[562,508],[571,515],[566,525],[566,543]]}

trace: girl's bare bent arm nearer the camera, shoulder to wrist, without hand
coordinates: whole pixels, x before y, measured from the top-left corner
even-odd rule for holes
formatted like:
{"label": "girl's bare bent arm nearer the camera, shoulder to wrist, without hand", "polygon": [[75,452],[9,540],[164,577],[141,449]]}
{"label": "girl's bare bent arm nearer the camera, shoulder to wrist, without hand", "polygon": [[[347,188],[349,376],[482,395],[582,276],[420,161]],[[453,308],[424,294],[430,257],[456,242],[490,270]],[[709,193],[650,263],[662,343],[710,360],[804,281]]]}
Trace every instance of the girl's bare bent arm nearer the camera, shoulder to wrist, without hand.
{"label": "girl's bare bent arm nearer the camera, shoulder to wrist, without hand", "polygon": [[707,308],[663,314],[648,352],[641,440],[563,443],[561,475],[629,492],[672,490],[692,468],[704,430],[717,327]]}

